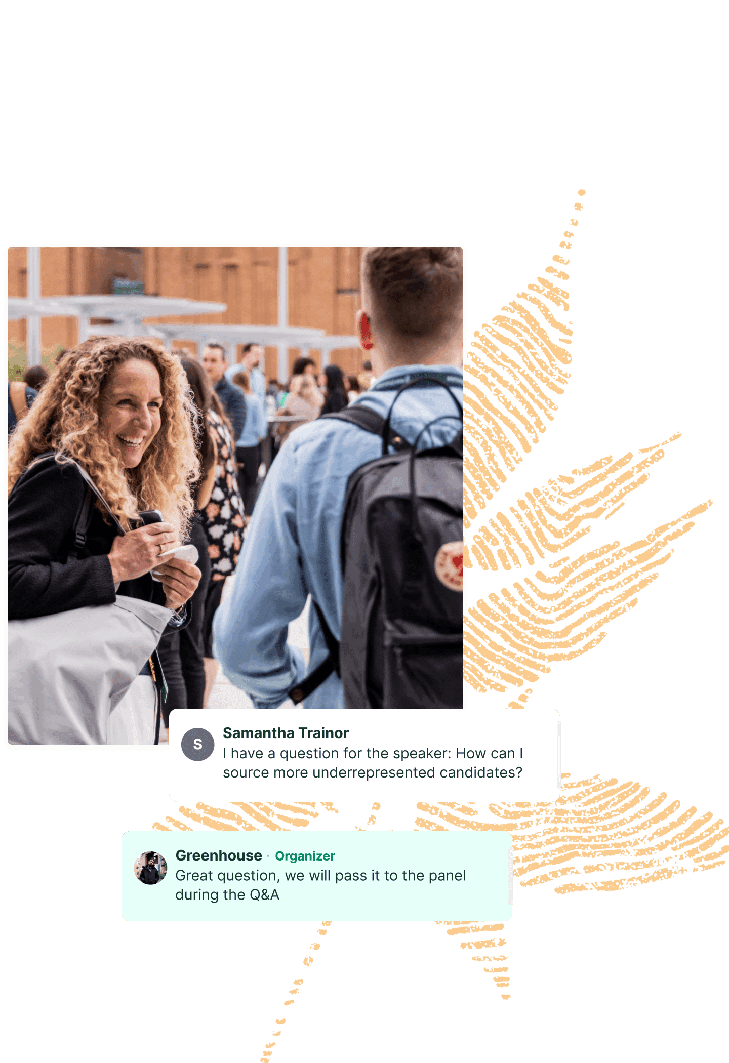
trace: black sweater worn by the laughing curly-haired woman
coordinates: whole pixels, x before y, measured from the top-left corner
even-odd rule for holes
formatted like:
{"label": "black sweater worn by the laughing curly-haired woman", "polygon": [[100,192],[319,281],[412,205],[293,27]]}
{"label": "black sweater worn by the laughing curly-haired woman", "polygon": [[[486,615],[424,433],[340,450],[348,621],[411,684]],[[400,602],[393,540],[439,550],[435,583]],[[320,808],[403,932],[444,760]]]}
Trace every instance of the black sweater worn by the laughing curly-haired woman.
{"label": "black sweater worn by the laughing curly-haired woman", "polygon": [[[48,457],[17,480],[7,500],[9,620],[115,601],[107,554],[118,532],[96,506],[85,547],[78,558],[68,556],[85,496],[77,467]],[[165,605],[163,586],[149,573],[120,584],[119,594]]]}

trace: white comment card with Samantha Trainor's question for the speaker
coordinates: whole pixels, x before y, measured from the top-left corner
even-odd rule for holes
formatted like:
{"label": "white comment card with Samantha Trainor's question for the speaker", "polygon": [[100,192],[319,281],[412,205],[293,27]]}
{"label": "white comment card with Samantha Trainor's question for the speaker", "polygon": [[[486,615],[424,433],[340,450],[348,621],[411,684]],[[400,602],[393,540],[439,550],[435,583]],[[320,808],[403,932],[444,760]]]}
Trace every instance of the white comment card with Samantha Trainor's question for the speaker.
{"label": "white comment card with Samantha Trainor's question for the speaker", "polygon": [[554,709],[175,709],[172,800],[553,802]]}

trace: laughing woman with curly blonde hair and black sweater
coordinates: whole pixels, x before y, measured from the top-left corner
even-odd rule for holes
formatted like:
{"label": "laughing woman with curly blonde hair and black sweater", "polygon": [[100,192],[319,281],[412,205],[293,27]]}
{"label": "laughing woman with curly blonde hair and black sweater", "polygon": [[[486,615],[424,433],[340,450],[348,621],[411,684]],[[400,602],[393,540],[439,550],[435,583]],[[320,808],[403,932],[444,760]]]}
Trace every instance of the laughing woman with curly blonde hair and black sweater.
{"label": "laughing woman with curly blonde hair and black sweater", "polygon": [[[173,610],[168,630],[185,623],[200,571],[170,552],[186,540],[194,509],[194,425],[187,377],[155,340],[100,336],[63,355],[9,444],[10,620],[108,605],[118,591]],[[96,502],[80,546],[80,470],[124,535]],[[145,510],[163,520],[138,526]],[[151,719],[137,706],[124,720],[128,702],[112,713],[107,741],[151,741],[154,706]]]}

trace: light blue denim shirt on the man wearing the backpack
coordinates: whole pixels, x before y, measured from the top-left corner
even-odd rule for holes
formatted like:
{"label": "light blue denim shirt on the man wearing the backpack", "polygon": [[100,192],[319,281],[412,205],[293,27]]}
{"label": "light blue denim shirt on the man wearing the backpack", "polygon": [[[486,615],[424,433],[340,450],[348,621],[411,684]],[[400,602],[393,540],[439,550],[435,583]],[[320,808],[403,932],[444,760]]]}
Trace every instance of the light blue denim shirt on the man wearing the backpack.
{"label": "light blue denim shirt on the man wearing the backpack", "polygon": [[[414,375],[437,376],[463,400],[463,373],[451,366],[388,369],[356,400],[386,417],[397,389]],[[445,388],[410,388],[397,400],[391,425],[413,442],[436,418],[455,415]],[[460,434],[457,420],[439,421],[419,449],[442,446]],[[215,615],[214,652],[223,672],[256,708],[275,708],[291,687],[327,655],[316,610],[309,610],[309,665],[287,643],[311,594],[336,639],[341,635],[342,574],[339,539],[351,474],[382,454],[379,437],[342,421],[312,421],[292,432],[271,466],[256,502],[233,591]],[[342,708],[342,685],[333,673],[304,708]]]}

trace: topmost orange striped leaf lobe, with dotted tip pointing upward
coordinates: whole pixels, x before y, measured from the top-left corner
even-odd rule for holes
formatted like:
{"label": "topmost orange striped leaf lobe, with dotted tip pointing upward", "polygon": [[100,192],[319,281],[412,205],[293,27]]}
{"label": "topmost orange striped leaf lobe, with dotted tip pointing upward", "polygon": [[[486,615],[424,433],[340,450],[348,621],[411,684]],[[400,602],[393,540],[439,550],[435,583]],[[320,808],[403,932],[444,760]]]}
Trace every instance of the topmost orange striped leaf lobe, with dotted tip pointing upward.
{"label": "topmost orange striped leaf lobe, with dotted tip pointing upward", "polygon": [[[584,195],[578,191],[580,199]],[[582,206],[575,203],[576,210]],[[572,248],[578,224],[577,218],[570,219],[560,248]],[[570,263],[559,254],[552,260]],[[554,396],[564,393],[570,379],[570,292],[555,283],[569,281],[570,274],[555,266],[544,273],[474,333],[463,367],[464,528],[537,445],[557,412]]]}

